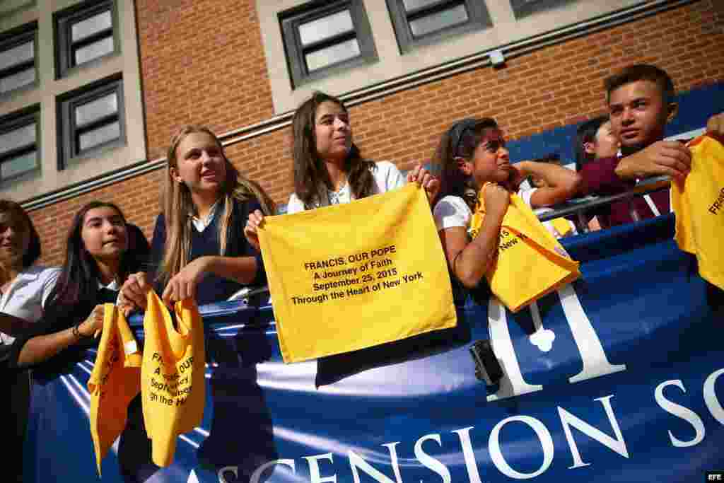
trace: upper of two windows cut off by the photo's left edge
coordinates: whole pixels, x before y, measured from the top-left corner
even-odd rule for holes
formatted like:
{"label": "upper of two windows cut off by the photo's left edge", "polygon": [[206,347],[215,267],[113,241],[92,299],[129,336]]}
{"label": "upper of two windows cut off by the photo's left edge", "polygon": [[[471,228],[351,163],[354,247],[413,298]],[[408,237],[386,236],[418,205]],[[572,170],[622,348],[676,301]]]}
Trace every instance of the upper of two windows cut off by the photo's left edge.
{"label": "upper of two windows cut off by the photo's left edge", "polygon": [[12,30],[0,38],[0,96],[35,86],[35,32],[37,25]]}

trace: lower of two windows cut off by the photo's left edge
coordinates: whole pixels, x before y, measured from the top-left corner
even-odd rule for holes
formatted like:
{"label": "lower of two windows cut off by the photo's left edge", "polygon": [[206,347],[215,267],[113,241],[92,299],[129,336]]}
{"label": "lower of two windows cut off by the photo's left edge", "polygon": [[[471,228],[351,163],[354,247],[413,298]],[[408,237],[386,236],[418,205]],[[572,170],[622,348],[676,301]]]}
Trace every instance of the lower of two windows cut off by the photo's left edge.
{"label": "lower of two windows cut off by the photo's left edge", "polygon": [[0,182],[40,167],[37,106],[0,118]]}

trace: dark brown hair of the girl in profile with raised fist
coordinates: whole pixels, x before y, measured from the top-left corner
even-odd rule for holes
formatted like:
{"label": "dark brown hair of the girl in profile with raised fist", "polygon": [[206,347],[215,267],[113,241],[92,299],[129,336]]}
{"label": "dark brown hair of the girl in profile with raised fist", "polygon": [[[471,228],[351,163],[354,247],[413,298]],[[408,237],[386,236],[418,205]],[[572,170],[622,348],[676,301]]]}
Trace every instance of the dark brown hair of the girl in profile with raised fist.
{"label": "dark brown hair of the girl in profile with raised fist", "polygon": [[478,203],[477,188],[473,177],[460,171],[458,158],[470,160],[484,135],[489,130],[497,129],[497,122],[490,117],[468,118],[455,122],[442,135],[434,157],[434,163],[442,167],[440,192],[435,203],[445,196],[459,196],[475,211]]}

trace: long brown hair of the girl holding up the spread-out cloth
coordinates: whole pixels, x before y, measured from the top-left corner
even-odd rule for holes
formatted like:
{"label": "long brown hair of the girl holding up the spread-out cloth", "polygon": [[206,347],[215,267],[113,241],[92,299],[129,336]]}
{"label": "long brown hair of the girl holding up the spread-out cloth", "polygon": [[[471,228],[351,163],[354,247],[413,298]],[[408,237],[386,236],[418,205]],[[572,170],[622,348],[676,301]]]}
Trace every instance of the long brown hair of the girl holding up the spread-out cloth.
{"label": "long brown hair of the girl holding up the spread-out cloth", "polygon": [[[328,94],[315,92],[304,101],[292,118],[292,154],[294,156],[294,190],[306,209],[316,204],[329,203],[328,190],[332,190],[327,167],[316,150],[316,111],[320,104],[333,102],[347,113],[347,107],[340,99]],[[345,159],[344,170],[347,182],[356,199],[374,194],[374,177],[371,169],[374,162],[362,159],[360,150],[352,144]]]}

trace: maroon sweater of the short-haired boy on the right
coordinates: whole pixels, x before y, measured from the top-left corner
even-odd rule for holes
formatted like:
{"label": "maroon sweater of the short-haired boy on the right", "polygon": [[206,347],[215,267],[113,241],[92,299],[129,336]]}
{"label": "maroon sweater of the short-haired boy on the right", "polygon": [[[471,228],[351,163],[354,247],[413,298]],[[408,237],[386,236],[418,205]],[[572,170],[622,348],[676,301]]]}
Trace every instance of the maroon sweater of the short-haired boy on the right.
{"label": "maroon sweater of the short-haired boy on the right", "polygon": [[[633,188],[636,185],[635,181],[622,180],[616,175],[615,169],[620,160],[621,158],[618,156],[612,156],[584,164],[580,174],[584,180],[585,193],[607,196],[623,193],[623,191]],[[668,190],[650,193],[649,196],[660,214],[667,214],[670,211]],[[632,209],[639,215],[639,219],[654,217],[654,212],[651,211],[648,203],[641,196],[611,203],[608,209],[597,211],[596,215],[602,228],[615,227],[619,224],[635,221],[631,217]]]}

